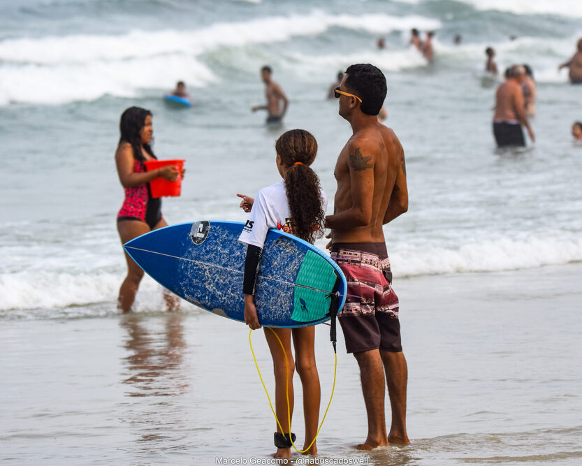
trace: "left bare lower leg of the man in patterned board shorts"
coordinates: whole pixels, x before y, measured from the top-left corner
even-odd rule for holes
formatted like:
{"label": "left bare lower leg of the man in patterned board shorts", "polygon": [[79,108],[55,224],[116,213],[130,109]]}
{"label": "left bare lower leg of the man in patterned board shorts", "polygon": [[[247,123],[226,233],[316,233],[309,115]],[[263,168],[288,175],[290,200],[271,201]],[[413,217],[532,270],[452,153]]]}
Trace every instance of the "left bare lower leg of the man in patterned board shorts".
{"label": "left bare lower leg of the man in patterned board shorts", "polygon": [[384,367],[377,349],[355,353],[360,366],[362,392],[366,413],[368,414],[368,438],[363,444],[356,445],[358,450],[371,450],[376,446],[388,445],[386,435],[386,416],[384,414]]}

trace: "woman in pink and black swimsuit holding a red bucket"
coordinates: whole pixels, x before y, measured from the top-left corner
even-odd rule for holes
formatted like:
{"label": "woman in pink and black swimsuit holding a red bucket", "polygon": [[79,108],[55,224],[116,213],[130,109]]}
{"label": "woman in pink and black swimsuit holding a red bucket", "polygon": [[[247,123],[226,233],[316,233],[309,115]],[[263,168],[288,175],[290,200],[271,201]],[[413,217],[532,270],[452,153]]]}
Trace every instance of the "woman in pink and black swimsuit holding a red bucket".
{"label": "woman in pink and black swimsuit holding a red bucket", "polygon": [[[165,166],[150,172],[145,171],[144,162],[154,160],[150,146],[152,141],[152,112],[139,107],[130,107],[122,114],[119,123],[121,138],[115,152],[115,164],[119,181],[125,190],[125,200],[117,214],[117,231],[122,244],[148,231],[167,226],[161,216],[161,199],[152,198],[150,181],[163,177],[175,181],[180,174],[177,168]],[[136,298],[143,270],[127,253],[127,276],[119,289],[117,307],[129,312]],[[177,307],[177,299],[164,292],[168,309]]]}

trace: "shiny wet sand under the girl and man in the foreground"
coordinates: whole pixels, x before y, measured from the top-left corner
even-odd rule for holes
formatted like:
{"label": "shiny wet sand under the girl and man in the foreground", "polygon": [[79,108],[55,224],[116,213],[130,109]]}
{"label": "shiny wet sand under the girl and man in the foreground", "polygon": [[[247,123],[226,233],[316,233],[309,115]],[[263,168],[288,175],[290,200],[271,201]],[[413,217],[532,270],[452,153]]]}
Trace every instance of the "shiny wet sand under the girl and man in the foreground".
{"label": "shiny wet sand under the girl and man in the foreground", "polygon": [[[581,276],[581,263],[397,276],[412,444],[354,451],[365,438],[365,411],[338,332],[337,386],[319,457],[370,465],[581,461]],[[328,331],[317,328],[322,414],[333,380]],[[177,314],[0,321],[0,462],[269,458],[275,421],[248,337],[241,323],[189,305]],[[252,337],[272,395],[262,330]],[[303,442],[295,384],[293,431]]]}

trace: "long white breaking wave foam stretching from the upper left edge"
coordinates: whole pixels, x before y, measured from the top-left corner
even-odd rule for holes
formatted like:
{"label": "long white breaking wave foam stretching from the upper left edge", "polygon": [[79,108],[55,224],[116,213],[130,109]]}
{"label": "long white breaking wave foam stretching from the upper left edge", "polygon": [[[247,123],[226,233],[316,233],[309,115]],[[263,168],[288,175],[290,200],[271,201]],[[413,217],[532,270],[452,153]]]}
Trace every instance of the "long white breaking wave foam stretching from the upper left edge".
{"label": "long white breaking wave foam stretching from the upper left edge", "polygon": [[136,96],[140,89],[164,89],[187,77],[204,87],[217,79],[203,54],[219,48],[289,41],[317,36],[332,27],[386,34],[416,25],[440,26],[419,16],[273,16],[246,22],[221,22],[195,31],[131,31],[122,36],[50,36],[0,42],[0,105],[91,101],[100,96]]}

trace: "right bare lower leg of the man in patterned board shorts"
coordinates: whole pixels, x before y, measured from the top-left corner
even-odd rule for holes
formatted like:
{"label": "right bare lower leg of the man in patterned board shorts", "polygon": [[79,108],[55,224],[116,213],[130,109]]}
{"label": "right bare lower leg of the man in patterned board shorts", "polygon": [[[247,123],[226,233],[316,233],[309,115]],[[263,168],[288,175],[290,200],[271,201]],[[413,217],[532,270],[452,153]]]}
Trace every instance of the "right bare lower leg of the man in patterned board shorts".
{"label": "right bare lower leg of the man in patterned board shorts", "polygon": [[394,444],[408,444],[406,432],[406,388],[408,382],[408,366],[402,351],[380,351],[384,369],[386,370],[386,382],[388,395],[392,407],[392,425],[388,440]]}

